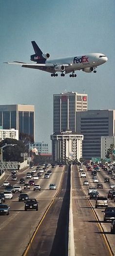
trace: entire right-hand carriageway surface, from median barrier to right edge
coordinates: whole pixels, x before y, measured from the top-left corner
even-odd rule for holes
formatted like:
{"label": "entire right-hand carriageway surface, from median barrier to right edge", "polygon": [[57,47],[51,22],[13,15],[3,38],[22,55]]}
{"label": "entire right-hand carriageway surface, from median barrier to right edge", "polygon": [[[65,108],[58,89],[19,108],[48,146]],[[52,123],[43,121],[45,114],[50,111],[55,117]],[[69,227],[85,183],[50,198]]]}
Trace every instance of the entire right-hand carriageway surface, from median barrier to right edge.
{"label": "entire right-hand carriageway surface, from median barrier to right edge", "polygon": [[[87,179],[89,186],[96,184],[93,183],[91,171],[87,171],[85,167],[84,171],[87,177],[80,178],[77,167],[72,168],[75,255],[115,255],[115,235],[110,233],[111,224],[103,222],[103,213],[101,213],[103,209],[96,209],[96,201],[89,200],[88,186],[83,186],[83,181]],[[103,184],[103,189],[98,191],[100,195],[107,196],[110,185],[104,183],[106,176],[108,176],[106,171],[97,172],[99,183]],[[114,201],[109,200],[108,206],[115,206]]]}

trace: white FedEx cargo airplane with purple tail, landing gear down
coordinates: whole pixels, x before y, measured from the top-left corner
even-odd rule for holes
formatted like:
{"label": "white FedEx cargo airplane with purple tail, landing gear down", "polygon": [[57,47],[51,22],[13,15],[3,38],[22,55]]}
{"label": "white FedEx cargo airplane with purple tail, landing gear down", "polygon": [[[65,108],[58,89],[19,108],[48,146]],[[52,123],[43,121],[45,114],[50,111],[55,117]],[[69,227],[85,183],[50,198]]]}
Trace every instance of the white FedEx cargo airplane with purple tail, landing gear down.
{"label": "white FedEx cargo airplane with purple tail, landing gear down", "polygon": [[37,62],[36,64],[28,64],[17,61],[14,61],[13,63],[7,62],[7,64],[18,64],[22,67],[46,71],[51,73],[51,77],[57,77],[57,72],[61,72],[61,77],[64,77],[65,74],[68,73],[72,73],[70,74],[70,77],[77,77],[77,74],[75,74],[76,70],[82,70],[86,73],[96,73],[96,67],[106,63],[108,60],[108,58],[102,53],[89,53],[49,60],[49,53],[44,54],[35,41],[32,41],[31,43],[35,51],[35,54],[31,55],[31,61]]}

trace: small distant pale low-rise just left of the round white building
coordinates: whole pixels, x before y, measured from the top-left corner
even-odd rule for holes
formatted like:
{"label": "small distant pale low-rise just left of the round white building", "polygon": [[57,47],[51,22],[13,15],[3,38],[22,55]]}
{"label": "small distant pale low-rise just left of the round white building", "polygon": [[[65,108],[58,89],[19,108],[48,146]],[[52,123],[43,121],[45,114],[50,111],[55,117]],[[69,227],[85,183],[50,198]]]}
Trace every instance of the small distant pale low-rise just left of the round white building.
{"label": "small distant pale low-rise just left of the round white building", "polygon": [[38,149],[38,153],[40,154],[49,154],[49,149],[48,149],[48,143],[45,142],[35,142],[30,145],[30,148],[36,148]]}

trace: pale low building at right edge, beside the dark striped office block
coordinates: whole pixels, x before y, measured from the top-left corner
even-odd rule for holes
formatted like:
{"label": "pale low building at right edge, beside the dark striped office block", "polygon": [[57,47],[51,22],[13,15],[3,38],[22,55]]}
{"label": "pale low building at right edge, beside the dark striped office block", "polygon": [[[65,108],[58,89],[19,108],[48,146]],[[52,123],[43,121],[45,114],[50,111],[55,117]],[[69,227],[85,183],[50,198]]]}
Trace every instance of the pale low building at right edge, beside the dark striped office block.
{"label": "pale low building at right edge, beside the dark striped office block", "polygon": [[110,149],[111,144],[114,145],[115,150],[115,134],[114,136],[101,137],[101,158],[106,158],[107,150]]}

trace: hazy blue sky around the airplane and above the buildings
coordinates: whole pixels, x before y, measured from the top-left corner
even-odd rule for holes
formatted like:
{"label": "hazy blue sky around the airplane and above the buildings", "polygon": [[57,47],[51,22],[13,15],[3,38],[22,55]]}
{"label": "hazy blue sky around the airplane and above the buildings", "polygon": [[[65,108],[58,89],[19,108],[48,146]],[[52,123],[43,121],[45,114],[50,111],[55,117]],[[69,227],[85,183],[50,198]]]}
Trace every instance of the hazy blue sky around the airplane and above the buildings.
{"label": "hazy blue sky around the airplane and above the buildings", "polygon": [[[100,52],[108,62],[73,79],[3,64],[30,63],[31,41],[52,59]],[[35,105],[35,140],[50,151],[53,94],[65,89],[85,89],[88,109],[115,109],[115,0],[0,0],[0,105]]]}

